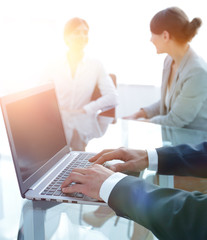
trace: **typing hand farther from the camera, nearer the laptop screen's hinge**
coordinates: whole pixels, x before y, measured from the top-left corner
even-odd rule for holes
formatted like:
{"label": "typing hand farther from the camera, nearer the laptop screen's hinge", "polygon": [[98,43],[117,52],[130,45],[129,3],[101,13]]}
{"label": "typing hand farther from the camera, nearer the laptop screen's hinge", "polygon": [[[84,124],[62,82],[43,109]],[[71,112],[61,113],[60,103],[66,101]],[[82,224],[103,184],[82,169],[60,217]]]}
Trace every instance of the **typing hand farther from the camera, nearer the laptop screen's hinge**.
{"label": "typing hand farther from the camera, nearer the laptop screen's hinge", "polygon": [[106,149],[89,159],[95,164],[103,164],[107,161],[119,159],[125,163],[117,163],[109,168],[114,172],[132,171],[140,172],[148,167],[148,155],[145,150],[133,150],[126,148]]}

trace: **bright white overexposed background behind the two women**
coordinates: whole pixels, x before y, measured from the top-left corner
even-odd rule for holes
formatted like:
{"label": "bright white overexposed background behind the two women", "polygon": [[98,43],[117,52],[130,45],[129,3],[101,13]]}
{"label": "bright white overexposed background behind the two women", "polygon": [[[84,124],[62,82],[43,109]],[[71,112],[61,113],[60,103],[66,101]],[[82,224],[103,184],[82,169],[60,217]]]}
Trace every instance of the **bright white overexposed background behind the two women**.
{"label": "bright white overexposed background behind the two women", "polygon": [[72,17],[90,26],[88,55],[100,59],[119,84],[160,86],[165,55],[150,42],[149,23],[178,6],[203,25],[192,47],[207,60],[207,15],[203,0],[7,0],[0,2],[0,94],[39,81],[50,61],[66,50],[63,27]]}

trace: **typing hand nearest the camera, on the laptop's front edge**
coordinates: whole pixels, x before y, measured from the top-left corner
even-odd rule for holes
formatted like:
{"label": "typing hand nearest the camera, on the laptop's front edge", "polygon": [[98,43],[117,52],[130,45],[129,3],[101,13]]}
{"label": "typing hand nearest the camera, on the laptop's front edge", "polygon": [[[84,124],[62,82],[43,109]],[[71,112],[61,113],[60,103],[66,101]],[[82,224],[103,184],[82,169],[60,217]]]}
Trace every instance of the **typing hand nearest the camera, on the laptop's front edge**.
{"label": "typing hand nearest the camera, on the laptop's front edge", "polygon": [[[99,196],[101,185],[113,173],[97,164],[89,168],[76,168],[62,183],[61,188],[63,193],[81,192],[89,197],[102,200]],[[76,184],[70,185],[74,182]]]}

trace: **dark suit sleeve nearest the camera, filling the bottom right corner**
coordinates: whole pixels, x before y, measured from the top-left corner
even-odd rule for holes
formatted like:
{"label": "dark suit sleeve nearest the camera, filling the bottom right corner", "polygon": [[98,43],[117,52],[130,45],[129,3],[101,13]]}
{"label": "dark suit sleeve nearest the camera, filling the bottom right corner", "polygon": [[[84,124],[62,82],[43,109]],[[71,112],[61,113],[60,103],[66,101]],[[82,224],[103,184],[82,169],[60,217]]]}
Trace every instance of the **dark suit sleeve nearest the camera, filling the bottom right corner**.
{"label": "dark suit sleeve nearest the camera, filling the bottom right corner", "polygon": [[161,188],[127,176],[116,184],[109,206],[153,232],[158,239],[207,239],[207,196]]}

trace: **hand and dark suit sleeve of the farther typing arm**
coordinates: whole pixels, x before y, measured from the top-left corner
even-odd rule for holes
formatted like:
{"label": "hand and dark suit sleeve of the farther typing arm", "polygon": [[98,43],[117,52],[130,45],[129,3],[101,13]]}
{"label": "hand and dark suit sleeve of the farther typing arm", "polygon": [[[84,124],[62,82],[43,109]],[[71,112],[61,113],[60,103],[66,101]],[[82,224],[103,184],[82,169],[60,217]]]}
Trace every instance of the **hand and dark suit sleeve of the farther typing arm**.
{"label": "hand and dark suit sleeve of the farther typing arm", "polygon": [[[207,142],[190,146],[157,148],[158,173],[165,175],[207,177]],[[113,159],[123,160],[111,167],[115,172],[142,171],[149,166],[149,158],[144,150],[127,148],[106,149],[90,159],[103,164]]]}

